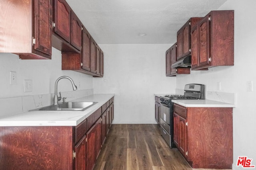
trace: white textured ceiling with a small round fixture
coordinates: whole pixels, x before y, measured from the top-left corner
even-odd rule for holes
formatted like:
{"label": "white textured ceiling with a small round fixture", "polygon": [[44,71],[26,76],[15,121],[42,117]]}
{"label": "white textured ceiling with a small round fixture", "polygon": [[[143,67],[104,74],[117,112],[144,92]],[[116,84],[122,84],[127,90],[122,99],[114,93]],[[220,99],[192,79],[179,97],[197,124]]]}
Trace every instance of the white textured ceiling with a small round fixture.
{"label": "white textured ceiling with a small round fixture", "polygon": [[[191,17],[226,0],[66,0],[98,44],[169,44]],[[138,36],[146,33],[146,36]]]}

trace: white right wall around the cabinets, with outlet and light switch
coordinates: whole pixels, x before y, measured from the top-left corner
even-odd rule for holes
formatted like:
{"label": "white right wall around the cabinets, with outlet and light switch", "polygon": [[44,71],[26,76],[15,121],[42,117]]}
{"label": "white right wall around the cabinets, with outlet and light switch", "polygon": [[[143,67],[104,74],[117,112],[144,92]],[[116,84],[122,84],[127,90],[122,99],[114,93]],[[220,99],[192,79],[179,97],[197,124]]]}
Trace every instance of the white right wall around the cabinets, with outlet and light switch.
{"label": "white right wall around the cabinets, with outlet and light switch", "polygon": [[[219,66],[208,71],[191,71],[190,75],[177,76],[177,88],[187,83],[206,84],[208,91],[236,93],[233,109],[233,169],[238,156],[248,156],[256,165],[256,1],[228,0],[218,10],[234,10],[234,66]],[[253,81],[253,91],[246,91],[246,82]],[[220,90],[217,90],[220,82]]]}

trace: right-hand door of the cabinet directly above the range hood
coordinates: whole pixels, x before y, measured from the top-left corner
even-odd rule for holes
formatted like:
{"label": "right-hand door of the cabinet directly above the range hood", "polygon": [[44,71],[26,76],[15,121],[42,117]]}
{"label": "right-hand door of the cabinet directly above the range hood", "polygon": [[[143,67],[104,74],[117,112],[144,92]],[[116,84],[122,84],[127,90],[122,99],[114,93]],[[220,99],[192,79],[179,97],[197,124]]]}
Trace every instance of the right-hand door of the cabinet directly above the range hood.
{"label": "right-hand door of the cabinet directly above the range hood", "polygon": [[190,54],[190,20],[182,27],[182,57]]}

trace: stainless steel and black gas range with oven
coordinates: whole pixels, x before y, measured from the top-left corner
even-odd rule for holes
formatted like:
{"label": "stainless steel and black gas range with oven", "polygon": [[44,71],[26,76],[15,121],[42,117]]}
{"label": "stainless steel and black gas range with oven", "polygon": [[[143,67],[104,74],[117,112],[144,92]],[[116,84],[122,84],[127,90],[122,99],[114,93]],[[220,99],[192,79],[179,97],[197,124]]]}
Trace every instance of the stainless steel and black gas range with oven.
{"label": "stainless steel and black gas range with oven", "polygon": [[172,100],[205,99],[204,84],[186,84],[184,95],[172,94],[160,96],[160,131],[170,148],[176,147],[173,142],[173,103]]}

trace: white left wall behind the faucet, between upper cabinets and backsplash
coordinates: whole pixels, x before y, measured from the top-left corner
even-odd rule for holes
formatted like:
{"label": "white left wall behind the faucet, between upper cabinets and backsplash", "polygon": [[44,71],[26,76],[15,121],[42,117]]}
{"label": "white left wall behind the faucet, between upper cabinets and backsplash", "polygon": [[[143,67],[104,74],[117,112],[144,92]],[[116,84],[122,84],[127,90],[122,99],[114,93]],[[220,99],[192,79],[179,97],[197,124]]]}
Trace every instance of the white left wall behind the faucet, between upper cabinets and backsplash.
{"label": "white left wall behind the faucet, between upper cabinets and backsplash", "polygon": [[[17,73],[17,84],[10,85],[10,71]],[[70,76],[78,90],[93,88],[92,76],[61,70],[61,52],[57,49],[52,48],[51,60],[20,60],[18,55],[0,53],[0,98],[54,93],[55,81],[60,76]],[[24,80],[32,80],[32,92],[23,91]],[[60,80],[58,91],[72,91],[70,81]]]}

